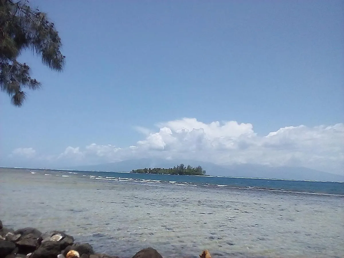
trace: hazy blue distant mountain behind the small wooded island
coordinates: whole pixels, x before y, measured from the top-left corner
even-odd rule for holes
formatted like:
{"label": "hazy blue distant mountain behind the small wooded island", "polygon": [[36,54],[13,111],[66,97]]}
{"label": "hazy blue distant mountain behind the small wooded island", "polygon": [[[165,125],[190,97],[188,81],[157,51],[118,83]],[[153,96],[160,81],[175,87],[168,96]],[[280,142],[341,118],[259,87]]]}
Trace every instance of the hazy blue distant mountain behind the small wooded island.
{"label": "hazy blue distant mountain behind the small wooded island", "polygon": [[129,172],[133,169],[136,170],[141,168],[171,168],[181,163],[184,165],[190,164],[192,166],[201,165],[202,168],[207,171],[207,175],[336,182],[344,181],[343,175],[336,175],[303,167],[270,167],[252,164],[239,164],[226,167],[209,162],[190,160],[137,159],[98,165],[68,167],[66,169]]}

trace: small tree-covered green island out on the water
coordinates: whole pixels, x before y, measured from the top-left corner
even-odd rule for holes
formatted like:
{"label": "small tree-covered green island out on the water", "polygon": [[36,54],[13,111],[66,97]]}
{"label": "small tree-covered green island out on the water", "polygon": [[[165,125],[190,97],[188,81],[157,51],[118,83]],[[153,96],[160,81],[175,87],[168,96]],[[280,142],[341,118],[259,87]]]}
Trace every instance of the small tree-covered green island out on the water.
{"label": "small tree-covered green island out on the water", "polygon": [[184,166],[180,164],[174,166],[173,168],[144,168],[132,170],[132,173],[141,173],[141,174],[172,174],[172,175],[205,175],[206,171],[202,169],[201,166],[192,167],[191,165]]}

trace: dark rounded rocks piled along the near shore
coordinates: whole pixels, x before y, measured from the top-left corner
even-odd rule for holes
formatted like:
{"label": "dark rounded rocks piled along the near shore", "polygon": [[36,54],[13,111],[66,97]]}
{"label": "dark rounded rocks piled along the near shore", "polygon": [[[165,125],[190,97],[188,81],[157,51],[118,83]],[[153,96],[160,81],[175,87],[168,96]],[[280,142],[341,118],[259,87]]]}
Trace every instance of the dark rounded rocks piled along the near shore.
{"label": "dark rounded rocks piled along the near shore", "polygon": [[[96,253],[88,243],[74,243],[74,237],[63,231],[42,233],[36,228],[13,230],[0,221],[0,258],[118,258]],[[132,258],[162,258],[151,247],[138,251]],[[207,257],[208,258],[208,257]]]}

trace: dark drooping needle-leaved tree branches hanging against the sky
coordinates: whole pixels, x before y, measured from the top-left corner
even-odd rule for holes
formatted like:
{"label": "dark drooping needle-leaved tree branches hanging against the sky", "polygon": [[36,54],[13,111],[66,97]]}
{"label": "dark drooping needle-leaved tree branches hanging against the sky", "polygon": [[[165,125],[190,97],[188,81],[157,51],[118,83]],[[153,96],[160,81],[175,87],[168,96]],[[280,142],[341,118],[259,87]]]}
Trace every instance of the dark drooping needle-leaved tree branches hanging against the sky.
{"label": "dark drooping needle-leaved tree branches hanging against the sky", "polygon": [[31,9],[28,1],[0,0],[0,90],[10,96],[14,106],[23,104],[23,88],[41,86],[31,78],[30,67],[17,61],[22,51],[32,49],[43,64],[60,72],[65,63],[61,46],[54,23],[45,13]]}

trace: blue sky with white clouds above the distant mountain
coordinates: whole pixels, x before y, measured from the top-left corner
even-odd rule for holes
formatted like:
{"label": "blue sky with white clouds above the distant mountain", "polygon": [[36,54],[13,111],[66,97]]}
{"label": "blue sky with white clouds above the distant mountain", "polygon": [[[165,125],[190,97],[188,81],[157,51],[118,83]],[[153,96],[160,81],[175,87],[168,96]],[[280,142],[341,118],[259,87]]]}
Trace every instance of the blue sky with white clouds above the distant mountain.
{"label": "blue sky with white clouds above the distant mountain", "polygon": [[44,1],[62,73],[0,94],[0,166],[140,158],[344,174],[343,1]]}

